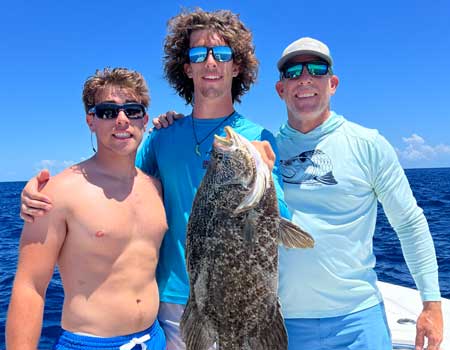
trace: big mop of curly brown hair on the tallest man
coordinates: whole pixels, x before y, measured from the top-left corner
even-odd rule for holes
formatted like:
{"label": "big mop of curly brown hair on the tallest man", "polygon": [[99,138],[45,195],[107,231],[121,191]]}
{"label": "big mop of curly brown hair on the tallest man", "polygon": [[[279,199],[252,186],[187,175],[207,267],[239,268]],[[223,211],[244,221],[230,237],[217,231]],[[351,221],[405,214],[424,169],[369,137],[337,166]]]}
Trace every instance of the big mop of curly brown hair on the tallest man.
{"label": "big mop of curly brown hair on the tallest man", "polygon": [[169,84],[178,95],[189,104],[193,100],[194,83],[184,72],[184,64],[189,63],[188,50],[190,36],[195,30],[210,30],[220,35],[233,49],[234,63],[239,74],[233,78],[231,96],[241,102],[250,86],[256,81],[258,60],[252,33],[239,19],[239,15],[228,10],[206,12],[200,8],[172,17],[168,22],[168,34],[164,44],[164,73]]}

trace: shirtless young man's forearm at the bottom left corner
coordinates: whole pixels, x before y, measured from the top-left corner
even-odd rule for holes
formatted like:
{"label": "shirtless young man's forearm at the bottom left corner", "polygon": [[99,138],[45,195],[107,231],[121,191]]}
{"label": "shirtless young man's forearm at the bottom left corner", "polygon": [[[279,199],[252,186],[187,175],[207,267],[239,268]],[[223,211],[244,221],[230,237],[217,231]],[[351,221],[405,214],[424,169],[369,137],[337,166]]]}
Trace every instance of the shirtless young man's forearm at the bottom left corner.
{"label": "shirtless young man's forearm at the bottom left corner", "polygon": [[44,297],[30,286],[15,285],[6,322],[8,350],[36,350],[42,328]]}

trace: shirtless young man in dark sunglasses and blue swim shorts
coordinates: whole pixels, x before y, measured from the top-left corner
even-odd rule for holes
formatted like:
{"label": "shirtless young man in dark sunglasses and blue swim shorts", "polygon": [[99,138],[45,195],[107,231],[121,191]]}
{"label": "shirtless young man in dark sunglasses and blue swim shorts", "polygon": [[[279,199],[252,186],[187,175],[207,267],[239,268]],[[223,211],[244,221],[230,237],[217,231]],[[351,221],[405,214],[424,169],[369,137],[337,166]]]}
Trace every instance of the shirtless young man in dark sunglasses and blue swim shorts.
{"label": "shirtless young man in dark sunglasses and blue swim shorts", "polygon": [[23,227],[7,348],[37,348],[57,264],[65,298],[56,349],[165,349],[155,279],[167,230],[161,185],[134,165],[148,88],[140,73],[105,69],[86,81],[83,102],[98,152],[48,181],[53,210]]}

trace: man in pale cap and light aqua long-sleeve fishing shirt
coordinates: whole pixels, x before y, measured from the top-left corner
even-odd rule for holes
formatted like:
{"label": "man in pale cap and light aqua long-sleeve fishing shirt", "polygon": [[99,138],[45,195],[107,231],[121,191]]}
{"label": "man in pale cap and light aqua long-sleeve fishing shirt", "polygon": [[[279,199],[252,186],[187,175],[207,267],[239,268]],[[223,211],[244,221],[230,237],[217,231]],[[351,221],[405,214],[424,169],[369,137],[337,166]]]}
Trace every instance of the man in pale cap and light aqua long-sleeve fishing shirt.
{"label": "man in pale cap and light aqua long-sleeve fishing shirt", "polygon": [[285,200],[314,236],[310,250],[280,248],[280,299],[289,349],[392,349],[374,271],[377,201],[396,231],[420,291],[416,349],[439,349],[442,311],[436,254],[392,146],[377,130],[330,110],[339,79],[328,47],[290,44],[276,90],[288,121],[280,129]]}

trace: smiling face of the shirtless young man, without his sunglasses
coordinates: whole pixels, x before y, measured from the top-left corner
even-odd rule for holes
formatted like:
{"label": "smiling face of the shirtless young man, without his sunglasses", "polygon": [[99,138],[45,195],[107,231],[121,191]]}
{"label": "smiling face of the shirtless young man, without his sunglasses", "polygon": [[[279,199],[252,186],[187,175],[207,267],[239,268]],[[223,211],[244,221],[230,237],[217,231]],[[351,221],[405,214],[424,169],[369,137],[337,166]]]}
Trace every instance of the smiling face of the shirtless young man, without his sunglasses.
{"label": "smiling face of the shirtless young man, without his sunglasses", "polygon": [[[95,102],[123,104],[141,101],[131,89],[107,85],[97,92]],[[96,133],[98,152],[134,157],[145,132],[148,115],[142,119],[129,119],[121,110],[117,118],[100,119],[89,113],[86,115],[86,121],[91,131]]]}

